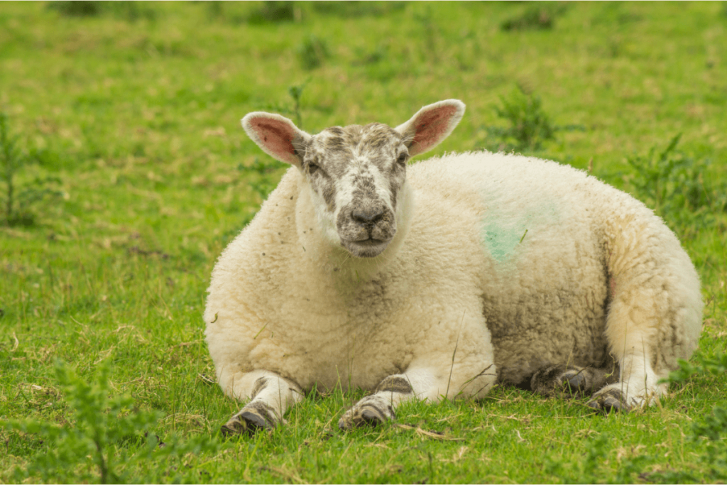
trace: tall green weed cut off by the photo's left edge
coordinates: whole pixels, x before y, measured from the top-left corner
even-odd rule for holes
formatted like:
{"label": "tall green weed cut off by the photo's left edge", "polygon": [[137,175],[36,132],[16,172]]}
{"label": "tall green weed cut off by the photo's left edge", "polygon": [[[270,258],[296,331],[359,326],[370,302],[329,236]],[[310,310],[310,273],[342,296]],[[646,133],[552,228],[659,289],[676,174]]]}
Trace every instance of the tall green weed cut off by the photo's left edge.
{"label": "tall green weed cut off by the photo's left edge", "polygon": [[42,156],[40,151],[23,151],[15,136],[10,135],[7,115],[0,113],[0,180],[5,183],[4,220],[7,225],[33,225],[33,206],[47,198],[60,196],[52,188],[60,183],[56,177],[35,177],[20,185],[18,175]]}

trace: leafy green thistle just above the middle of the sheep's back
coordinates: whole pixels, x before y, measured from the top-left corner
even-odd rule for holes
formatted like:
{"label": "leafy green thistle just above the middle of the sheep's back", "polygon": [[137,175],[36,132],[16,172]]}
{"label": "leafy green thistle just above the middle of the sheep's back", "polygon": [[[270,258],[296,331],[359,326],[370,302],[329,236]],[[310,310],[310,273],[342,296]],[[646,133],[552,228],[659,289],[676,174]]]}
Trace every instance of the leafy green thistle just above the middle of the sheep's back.
{"label": "leafy green thistle just above the middle of the sheep's back", "polygon": [[535,151],[542,143],[555,139],[556,127],[542,108],[540,97],[528,94],[518,85],[510,96],[500,97],[502,105],[495,107],[499,119],[507,127],[488,127],[488,136],[496,143],[493,151]]}

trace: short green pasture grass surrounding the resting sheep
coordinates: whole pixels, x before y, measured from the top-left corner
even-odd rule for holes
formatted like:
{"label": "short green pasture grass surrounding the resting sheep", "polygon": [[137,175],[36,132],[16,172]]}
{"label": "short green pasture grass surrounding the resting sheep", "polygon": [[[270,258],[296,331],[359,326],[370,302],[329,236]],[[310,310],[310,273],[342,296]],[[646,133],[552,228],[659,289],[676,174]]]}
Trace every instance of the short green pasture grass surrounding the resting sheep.
{"label": "short green pasture grass surrounding the resting sheep", "polygon": [[[696,374],[630,414],[495,388],[479,403],[406,404],[395,423],[351,433],[336,423],[360,393],[313,395],[286,427],[225,441],[218,430],[239,404],[204,378],[214,369],[201,318],[215,258],[284,171],[244,135],[244,114],[300,116],[315,132],[399,124],[456,97],[465,119],[435,153],[467,151],[498,143],[497,133],[516,137],[498,113],[520,87],[553,127],[578,129],[518,149],[592,164],[606,182],[659,202],[702,277],[699,353],[723,352],[724,4],[546,4],[547,18],[526,3],[474,2],[81,10],[0,6],[0,111],[24,153],[42,154],[16,181],[60,180],[62,194],[33,206],[32,225],[0,225],[0,420],[82,432],[56,361],[79,382],[108,363],[106,392],[133,403],[119,412],[151,413],[159,419],[148,436],[180,443],[154,455],[139,444],[142,425],[129,425],[134,439],[108,444],[127,458],[113,462],[125,481],[726,479],[724,434],[712,443],[692,429],[727,406],[724,372]],[[675,164],[660,169],[679,134]],[[89,412],[111,404],[99,406]],[[36,465],[57,441],[25,429],[0,430],[0,482],[102,479],[90,452],[44,475]]]}

